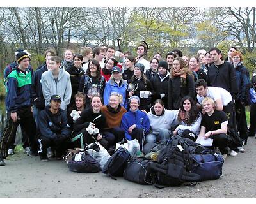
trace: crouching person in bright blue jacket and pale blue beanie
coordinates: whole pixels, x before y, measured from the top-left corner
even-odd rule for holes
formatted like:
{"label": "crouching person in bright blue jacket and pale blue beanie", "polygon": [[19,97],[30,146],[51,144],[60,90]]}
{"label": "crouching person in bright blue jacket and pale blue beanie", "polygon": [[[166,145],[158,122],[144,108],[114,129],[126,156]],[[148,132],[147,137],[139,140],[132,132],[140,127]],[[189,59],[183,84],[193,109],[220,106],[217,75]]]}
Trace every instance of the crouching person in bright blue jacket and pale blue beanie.
{"label": "crouching person in bright blue jacket and pale blue beanie", "polygon": [[150,131],[150,122],[147,113],[139,110],[140,98],[138,96],[131,96],[129,105],[130,109],[124,113],[120,127],[124,129],[127,140],[138,140],[142,151],[145,135]]}

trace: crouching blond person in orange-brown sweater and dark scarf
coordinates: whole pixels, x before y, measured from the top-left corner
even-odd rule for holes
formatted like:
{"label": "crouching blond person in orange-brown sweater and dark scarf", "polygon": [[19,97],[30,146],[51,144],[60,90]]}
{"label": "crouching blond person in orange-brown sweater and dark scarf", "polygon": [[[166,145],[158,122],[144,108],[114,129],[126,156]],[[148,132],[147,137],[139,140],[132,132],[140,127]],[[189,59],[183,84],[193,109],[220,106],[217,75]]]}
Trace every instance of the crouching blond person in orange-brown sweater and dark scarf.
{"label": "crouching blond person in orange-brown sweater and dark scarf", "polygon": [[101,112],[106,117],[106,128],[104,128],[103,135],[105,135],[106,138],[109,138],[109,145],[120,142],[122,138],[124,138],[124,129],[120,128],[120,124],[122,117],[127,110],[121,106],[123,101],[122,98],[121,94],[112,92],[108,104],[100,107]]}

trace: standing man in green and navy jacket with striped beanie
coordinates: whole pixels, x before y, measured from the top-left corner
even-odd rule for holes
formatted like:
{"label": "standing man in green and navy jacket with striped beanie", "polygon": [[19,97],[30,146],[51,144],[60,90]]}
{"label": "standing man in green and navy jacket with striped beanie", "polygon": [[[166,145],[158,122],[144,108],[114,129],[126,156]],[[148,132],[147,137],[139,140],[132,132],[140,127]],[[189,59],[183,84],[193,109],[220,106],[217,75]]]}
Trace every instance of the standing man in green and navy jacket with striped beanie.
{"label": "standing man in green and navy jacket with striped beanie", "polygon": [[30,57],[26,52],[17,55],[18,66],[6,78],[6,110],[7,123],[0,139],[0,166],[5,166],[4,159],[8,156],[7,147],[16,135],[20,126],[28,134],[31,152],[36,154],[35,133],[36,124],[31,111],[32,73],[28,69]]}

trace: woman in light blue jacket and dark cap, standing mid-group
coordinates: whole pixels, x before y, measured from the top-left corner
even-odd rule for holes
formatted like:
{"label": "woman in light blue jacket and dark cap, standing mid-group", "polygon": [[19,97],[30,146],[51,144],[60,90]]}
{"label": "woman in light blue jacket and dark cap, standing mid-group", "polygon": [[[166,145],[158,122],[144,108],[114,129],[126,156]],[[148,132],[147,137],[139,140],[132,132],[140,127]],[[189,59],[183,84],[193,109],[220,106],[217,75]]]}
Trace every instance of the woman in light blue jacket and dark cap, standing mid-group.
{"label": "woman in light blue jacket and dark cap, standing mid-group", "polygon": [[112,73],[111,77],[109,81],[106,83],[106,87],[104,89],[104,94],[103,94],[104,105],[108,105],[109,97],[111,93],[116,92],[123,96],[123,102],[121,103],[121,106],[124,106],[124,108],[127,108],[127,102],[126,102],[127,80],[123,80],[121,69],[118,66],[114,66],[112,68],[111,73]]}

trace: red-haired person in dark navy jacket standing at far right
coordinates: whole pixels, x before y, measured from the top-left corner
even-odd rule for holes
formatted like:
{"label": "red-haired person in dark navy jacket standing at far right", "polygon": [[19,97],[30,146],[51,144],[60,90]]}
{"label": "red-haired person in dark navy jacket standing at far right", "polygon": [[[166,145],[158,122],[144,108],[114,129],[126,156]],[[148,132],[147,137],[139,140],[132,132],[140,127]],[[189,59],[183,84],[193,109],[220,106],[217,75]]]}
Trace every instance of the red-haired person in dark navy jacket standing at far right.
{"label": "red-haired person in dark navy jacket standing at far right", "polygon": [[[232,54],[232,62],[236,69],[236,82],[239,92],[235,103],[236,108],[236,125],[239,131],[239,136],[245,143],[247,143],[248,129],[246,122],[245,106],[248,105],[246,98],[246,89],[250,88],[250,75],[249,71],[243,65],[243,55],[239,51],[234,51]],[[237,147],[241,152],[241,147]],[[244,152],[244,151],[242,151]]]}

